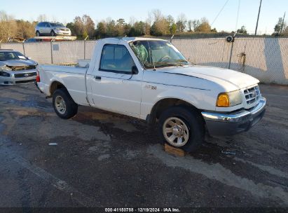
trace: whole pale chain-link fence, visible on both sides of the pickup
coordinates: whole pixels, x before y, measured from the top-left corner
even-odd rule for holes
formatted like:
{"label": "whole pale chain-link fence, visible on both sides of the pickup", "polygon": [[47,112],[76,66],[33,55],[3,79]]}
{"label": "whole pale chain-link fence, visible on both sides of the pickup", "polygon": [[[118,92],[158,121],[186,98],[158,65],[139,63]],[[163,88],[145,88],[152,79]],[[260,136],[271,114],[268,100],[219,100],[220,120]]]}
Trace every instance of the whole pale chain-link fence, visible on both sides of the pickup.
{"label": "whole pale chain-link fence, visible on both sides of the pickup", "polygon": [[[73,64],[90,59],[97,41],[1,43],[18,50],[39,64]],[[173,39],[172,43],[191,62],[241,71],[263,83],[288,85],[288,38]],[[231,57],[231,63],[229,63]]]}

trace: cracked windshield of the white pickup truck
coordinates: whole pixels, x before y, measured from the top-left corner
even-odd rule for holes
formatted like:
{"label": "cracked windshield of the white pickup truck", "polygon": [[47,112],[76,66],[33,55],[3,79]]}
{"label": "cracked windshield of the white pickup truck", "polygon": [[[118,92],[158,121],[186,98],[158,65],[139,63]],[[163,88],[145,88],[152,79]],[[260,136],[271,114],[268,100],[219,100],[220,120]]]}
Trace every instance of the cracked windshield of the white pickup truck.
{"label": "cracked windshield of the white pickup truck", "polygon": [[129,45],[146,69],[190,64],[168,41],[132,41]]}

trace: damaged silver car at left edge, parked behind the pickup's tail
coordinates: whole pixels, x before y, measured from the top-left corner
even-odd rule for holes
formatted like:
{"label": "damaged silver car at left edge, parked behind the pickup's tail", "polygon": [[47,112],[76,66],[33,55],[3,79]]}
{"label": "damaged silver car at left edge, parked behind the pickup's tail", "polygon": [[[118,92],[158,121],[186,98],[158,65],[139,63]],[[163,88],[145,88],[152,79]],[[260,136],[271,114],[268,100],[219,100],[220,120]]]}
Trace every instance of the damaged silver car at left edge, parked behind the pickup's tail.
{"label": "damaged silver car at left edge, parked behind the pickup's tail", "polygon": [[17,51],[0,49],[0,85],[36,81],[37,65]]}

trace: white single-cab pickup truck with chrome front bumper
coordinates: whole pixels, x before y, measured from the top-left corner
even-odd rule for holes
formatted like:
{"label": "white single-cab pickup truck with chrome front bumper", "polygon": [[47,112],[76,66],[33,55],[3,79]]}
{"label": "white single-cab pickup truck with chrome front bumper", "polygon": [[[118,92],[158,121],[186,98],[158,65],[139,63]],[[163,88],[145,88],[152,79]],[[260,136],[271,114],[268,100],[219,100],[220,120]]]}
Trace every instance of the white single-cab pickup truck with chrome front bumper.
{"label": "white single-cab pickup truck with chrome front bumper", "polygon": [[78,105],[140,118],[158,123],[162,142],[187,152],[206,132],[249,130],[266,106],[256,78],[191,64],[160,39],[99,40],[85,67],[42,65],[36,81],[60,118],[75,116]]}

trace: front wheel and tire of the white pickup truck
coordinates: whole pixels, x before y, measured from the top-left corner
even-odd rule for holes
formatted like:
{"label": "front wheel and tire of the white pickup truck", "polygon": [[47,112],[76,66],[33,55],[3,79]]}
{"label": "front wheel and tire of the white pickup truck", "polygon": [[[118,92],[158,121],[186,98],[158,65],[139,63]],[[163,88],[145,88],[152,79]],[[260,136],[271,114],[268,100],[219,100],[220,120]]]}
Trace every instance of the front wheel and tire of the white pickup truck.
{"label": "front wheel and tire of the white pickup truck", "polygon": [[203,118],[196,109],[184,106],[163,111],[158,128],[162,142],[188,153],[198,150],[205,138]]}

